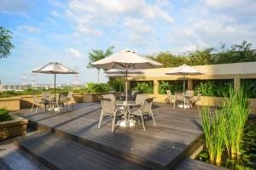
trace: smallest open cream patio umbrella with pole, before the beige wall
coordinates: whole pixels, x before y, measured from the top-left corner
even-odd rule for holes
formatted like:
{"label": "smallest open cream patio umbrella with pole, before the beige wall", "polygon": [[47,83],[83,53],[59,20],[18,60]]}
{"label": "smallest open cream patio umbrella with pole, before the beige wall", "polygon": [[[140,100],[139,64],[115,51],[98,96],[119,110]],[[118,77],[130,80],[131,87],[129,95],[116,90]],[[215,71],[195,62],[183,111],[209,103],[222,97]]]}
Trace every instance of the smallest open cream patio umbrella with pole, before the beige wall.
{"label": "smallest open cream patio umbrella with pole, before the beige wall", "polygon": [[[185,80],[186,75],[202,75],[204,73],[196,71],[195,69],[189,67],[189,65],[183,64],[177,68],[172,69],[171,71],[166,72],[167,75],[180,75],[183,76],[183,96],[185,96]],[[184,98],[185,101],[185,98]],[[185,103],[185,102],[184,102]],[[183,104],[184,107],[184,104]]]}

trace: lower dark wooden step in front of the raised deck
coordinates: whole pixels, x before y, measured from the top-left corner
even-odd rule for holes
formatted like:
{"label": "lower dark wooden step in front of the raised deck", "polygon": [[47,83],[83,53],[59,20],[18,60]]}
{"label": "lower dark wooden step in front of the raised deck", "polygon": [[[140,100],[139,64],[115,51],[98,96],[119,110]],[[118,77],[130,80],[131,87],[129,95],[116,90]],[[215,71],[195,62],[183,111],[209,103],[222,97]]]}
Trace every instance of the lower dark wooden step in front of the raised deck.
{"label": "lower dark wooden step in front of the raised deck", "polygon": [[17,144],[50,169],[148,169],[45,131],[22,137]]}

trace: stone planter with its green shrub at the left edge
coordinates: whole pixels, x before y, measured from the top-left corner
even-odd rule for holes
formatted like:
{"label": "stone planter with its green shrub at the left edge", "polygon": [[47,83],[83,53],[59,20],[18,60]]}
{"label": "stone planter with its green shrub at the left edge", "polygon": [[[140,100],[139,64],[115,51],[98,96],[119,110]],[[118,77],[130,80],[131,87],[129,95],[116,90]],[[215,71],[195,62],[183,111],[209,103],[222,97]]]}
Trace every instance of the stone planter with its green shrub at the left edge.
{"label": "stone planter with its green shrub at the left edge", "polygon": [[26,134],[27,120],[12,116],[7,109],[0,109],[0,140]]}

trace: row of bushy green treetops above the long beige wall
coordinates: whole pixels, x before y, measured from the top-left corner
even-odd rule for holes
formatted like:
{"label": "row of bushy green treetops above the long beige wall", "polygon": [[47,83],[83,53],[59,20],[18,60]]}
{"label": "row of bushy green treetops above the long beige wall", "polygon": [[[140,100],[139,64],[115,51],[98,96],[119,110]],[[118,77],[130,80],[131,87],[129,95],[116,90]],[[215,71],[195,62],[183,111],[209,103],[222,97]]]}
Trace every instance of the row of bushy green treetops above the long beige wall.
{"label": "row of bushy green treetops above the long beige wall", "polygon": [[160,54],[148,57],[160,62],[165,67],[177,67],[183,64],[213,65],[256,61],[256,53],[251,48],[252,43],[244,41],[241,44],[232,45],[230,48],[226,48],[223,43],[219,50],[215,48],[196,48],[194,52],[188,52],[183,55],[160,52]]}

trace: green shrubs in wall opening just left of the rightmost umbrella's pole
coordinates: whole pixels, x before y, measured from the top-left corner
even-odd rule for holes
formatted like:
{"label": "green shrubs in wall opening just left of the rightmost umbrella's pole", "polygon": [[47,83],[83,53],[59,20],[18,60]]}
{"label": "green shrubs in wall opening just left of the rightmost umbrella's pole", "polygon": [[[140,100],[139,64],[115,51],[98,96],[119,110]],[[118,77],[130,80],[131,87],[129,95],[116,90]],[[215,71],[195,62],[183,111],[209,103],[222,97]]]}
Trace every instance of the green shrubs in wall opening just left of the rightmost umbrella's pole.
{"label": "green shrubs in wall opening just left of the rightmost umbrella's pole", "polygon": [[172,83],[167,81],[160,81],[159,83],[159,94],[166,94],[166,90],[171,90],[172,94],[176,91],[183,91],[183,84]]}

